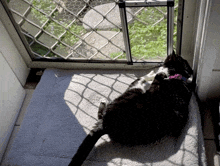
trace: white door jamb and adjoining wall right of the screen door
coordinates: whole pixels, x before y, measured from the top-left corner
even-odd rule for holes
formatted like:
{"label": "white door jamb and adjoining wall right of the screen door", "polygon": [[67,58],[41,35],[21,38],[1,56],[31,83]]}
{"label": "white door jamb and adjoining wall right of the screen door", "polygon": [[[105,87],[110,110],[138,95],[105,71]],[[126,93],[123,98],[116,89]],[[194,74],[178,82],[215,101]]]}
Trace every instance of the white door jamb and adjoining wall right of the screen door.
{"label": "white door jamb and adjoining wall right of the screen door", "polygon": [[202,101],[220,98],[220,1],[185,1],[182,56],[194,70]]}

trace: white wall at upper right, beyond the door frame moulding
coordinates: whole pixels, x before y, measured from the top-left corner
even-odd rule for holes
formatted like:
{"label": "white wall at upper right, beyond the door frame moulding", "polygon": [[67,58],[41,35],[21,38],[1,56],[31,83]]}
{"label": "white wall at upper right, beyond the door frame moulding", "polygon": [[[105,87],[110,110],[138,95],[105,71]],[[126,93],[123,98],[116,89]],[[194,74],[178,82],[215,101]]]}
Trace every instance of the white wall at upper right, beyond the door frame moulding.
{"label": "white wall at upper right, beyond the door frame moulding", "polygon": [[[200,34],[197,93],[202,101],[220,97],[220,1],[204,1],[203,27]],[[197,44],[197,43],[196,43]],[[195,47],[196,47],[195,44]]]}

